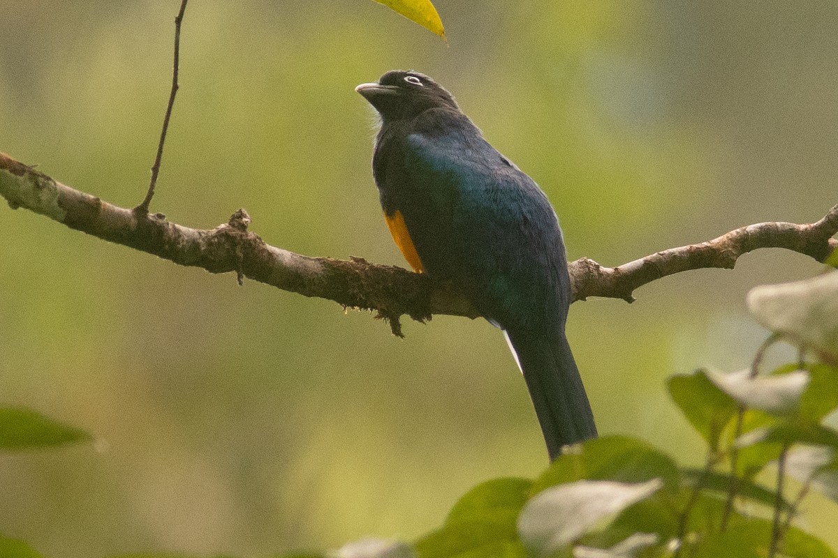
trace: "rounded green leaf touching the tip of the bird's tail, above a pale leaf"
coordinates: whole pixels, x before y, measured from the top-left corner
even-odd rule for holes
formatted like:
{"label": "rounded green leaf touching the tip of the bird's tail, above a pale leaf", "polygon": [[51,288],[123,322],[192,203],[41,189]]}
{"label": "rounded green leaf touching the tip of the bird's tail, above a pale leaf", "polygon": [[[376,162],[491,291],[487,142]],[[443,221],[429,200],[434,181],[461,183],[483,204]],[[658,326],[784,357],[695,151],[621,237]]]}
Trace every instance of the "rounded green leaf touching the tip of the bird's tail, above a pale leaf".
{"label": "rounded green leaf touching the tip of the bird's tail, above a pale leaf", "polygon": [[634,438],[603,436],[561,454],[535,480],[530,494],[582,479],[641,483],[659,478],[667,486],[680,484],[678,467],[668,455]]}

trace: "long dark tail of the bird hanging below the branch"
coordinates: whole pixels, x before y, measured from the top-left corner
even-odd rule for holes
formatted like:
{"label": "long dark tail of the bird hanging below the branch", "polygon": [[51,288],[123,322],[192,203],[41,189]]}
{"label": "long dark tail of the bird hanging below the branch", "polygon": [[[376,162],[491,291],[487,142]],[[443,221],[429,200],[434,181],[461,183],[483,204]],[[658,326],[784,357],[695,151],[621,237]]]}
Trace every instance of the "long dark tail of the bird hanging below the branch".
{"label": "long dark tail of the bird hanging below the branch", "polygon": [[524,374],[550,459],[561,446],[597,437],[591,405],[563,331],[506,331]]}

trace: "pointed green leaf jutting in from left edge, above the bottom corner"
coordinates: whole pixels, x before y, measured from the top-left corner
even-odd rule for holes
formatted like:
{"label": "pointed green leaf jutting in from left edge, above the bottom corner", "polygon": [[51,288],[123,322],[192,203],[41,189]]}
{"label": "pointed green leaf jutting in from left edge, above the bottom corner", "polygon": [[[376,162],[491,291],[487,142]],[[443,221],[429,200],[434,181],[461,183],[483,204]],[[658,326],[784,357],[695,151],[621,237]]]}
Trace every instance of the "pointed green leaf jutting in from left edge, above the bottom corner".
{"label": "pointed green leaf jutting in from left edge, above the bottom corner", "polygon": [[0,408],[0,448],[44,448],[90,439],[90,434],[83,430],[56,422],[39,412]]}

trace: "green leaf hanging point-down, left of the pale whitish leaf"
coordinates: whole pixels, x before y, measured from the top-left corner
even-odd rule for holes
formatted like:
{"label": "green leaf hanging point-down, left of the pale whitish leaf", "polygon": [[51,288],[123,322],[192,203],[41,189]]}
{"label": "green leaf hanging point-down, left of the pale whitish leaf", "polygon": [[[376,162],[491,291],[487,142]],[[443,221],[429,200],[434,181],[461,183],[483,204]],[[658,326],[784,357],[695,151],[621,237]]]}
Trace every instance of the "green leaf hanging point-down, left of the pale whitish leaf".
{"label": "green leaf hanging point-down, left of the pale whitish leaf", "polygon": [[670,376],[669,388],[672,400],[687,420],[716,450],[722,430],[738,411],[737,403],[716,387],[703,370],[690,376]]}

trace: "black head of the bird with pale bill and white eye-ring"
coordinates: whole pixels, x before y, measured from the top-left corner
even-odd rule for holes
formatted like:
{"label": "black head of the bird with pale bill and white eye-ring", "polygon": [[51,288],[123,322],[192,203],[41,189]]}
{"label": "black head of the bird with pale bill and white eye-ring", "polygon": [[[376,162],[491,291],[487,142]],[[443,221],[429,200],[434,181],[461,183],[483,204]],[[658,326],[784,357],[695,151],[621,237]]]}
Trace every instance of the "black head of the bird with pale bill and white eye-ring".
{"label": "black head of the bird with pale bill and white eye-ring", "polygon": [[442,85],[418,72],[394,69],[381,76],[378,83],[355,88],[385,121],[412,118],[425,110],[459,110],[457,102]]}

